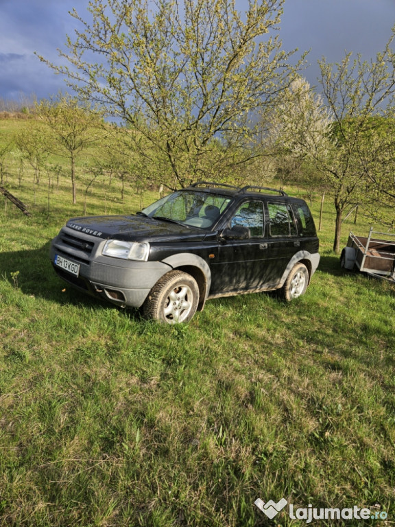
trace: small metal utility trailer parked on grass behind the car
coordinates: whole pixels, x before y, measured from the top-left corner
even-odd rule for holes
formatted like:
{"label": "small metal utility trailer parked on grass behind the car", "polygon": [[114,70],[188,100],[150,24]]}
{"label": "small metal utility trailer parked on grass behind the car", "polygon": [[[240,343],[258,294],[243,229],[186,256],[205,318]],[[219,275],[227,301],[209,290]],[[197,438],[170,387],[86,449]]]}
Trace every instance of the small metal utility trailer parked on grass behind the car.
{"label": "small metal utility trailer parked on grass behind the car", "polygon": [[373,227],[370,228],[368,237],[356,236],[350,232],[347,246],[340,256],[342,268],[367,272],[390,281],[395,281],[394,264],[395,234],[379,233],[373,231]]}

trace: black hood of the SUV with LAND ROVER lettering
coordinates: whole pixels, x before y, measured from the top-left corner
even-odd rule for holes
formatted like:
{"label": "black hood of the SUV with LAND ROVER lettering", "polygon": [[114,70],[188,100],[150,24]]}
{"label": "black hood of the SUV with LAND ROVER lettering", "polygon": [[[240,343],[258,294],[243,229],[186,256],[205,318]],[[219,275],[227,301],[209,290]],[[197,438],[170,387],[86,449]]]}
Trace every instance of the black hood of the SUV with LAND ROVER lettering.
{"label": "black hood of the SUV with LAND ROVER lettering", "polygon": [[206,231],[143,215],[84,216],[72,218],[67,227],[103,239],[155,242],[174,239],[203,239]]}

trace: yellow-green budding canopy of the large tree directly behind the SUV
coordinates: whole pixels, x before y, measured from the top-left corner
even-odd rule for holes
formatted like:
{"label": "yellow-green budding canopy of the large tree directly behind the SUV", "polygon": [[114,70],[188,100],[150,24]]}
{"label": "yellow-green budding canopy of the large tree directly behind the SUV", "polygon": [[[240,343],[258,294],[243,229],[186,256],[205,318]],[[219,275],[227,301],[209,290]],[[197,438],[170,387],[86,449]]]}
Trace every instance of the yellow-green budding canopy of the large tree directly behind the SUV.
{"label": "yellow-green budding canopy of the large tree directly behind the SUV", "polygon": [[40,58],[146,137],[163,178],[184,185],[254,157],[252,117],[298,69],[276,35],[283,3],[248,0],[242,13],[235,0],[92,0],[87,19],[71,12],[81,30],[62,63]]}

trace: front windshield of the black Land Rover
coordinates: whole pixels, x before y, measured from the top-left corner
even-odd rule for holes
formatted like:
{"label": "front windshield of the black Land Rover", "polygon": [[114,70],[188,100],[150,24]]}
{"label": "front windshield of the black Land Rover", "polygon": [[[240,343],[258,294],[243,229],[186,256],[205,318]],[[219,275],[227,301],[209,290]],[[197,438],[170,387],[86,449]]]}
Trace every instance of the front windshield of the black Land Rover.
{"label": "front windshield of the black Land Rover", "polygon": [[143,209],[150,218],[167,218],[184,225],[210,229],[231,198],[199,191],[176,191]]}

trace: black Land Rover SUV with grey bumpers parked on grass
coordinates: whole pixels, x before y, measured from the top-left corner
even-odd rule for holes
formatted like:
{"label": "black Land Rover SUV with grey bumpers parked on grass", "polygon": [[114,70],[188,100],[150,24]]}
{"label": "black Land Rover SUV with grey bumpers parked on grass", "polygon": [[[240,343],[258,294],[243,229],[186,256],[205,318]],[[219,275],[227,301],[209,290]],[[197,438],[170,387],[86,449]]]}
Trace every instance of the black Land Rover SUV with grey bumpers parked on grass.
{"label": "black Land Rover SUV with grey bumpers parked on grass", "polygon": [[303,294],[320,261],[309,207],[283,191],[199,182],[136,215],[73,218],[51,244],[58,275],[119,306],[187,322],[207,298]]}

